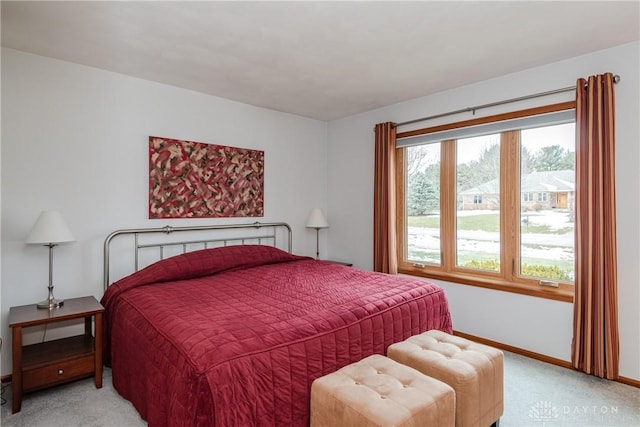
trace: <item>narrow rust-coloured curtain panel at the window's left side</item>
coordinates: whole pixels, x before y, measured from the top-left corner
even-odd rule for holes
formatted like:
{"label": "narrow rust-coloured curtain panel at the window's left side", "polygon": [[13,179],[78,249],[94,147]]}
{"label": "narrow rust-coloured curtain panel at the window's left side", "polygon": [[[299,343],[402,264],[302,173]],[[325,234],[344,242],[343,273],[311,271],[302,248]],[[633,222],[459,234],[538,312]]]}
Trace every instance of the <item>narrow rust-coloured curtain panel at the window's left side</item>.
{"label": "narrow rust-coloured curtain panel at the window's left side", "polygon": [[373,270],[397,274],[396,249],[396,127],[379,123],[375,128],[373,185]]}

